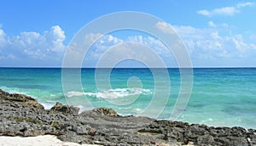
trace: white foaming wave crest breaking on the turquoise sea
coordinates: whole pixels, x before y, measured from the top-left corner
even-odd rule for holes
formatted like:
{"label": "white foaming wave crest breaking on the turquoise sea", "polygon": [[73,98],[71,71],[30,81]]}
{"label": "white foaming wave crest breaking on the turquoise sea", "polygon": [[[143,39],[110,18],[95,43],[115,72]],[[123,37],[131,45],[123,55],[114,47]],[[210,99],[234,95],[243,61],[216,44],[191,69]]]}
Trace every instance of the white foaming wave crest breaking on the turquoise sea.
{"label": "white foaming wave crest breaking on the turquoise sea", "polygon": [[143,88],[115,88],[115,89],[109,89],[109,90],[102,90],[100,92],[96,93],[81,93],[81,92],[68,92],[66,94],[67,98],[72,98],[75,96],[92,96],[96,98],[125,98],[132,95],[148,95],[152,94],[149,89],[143,89]]}

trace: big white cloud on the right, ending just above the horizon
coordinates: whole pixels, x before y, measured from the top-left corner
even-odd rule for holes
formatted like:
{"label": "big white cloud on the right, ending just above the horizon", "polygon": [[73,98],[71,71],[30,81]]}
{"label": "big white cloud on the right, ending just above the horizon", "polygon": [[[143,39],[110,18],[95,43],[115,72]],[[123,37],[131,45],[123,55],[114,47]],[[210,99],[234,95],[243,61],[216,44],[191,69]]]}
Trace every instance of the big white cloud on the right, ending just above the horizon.
{"label": "big white cloud on the right, ending just above the horizon", "polygon": [[[197,65],[221,59],[251,59],[256,55],[256,44],[246,42],[241,34],[219,35],[218,28],[198,29],[191,26],[173,26],[181,36],[190,57]],[[213,61],[215,60],[215,61]],[[219,65],[225,62],[219,63]],[[217,63],[215,65],[218,65]]]}

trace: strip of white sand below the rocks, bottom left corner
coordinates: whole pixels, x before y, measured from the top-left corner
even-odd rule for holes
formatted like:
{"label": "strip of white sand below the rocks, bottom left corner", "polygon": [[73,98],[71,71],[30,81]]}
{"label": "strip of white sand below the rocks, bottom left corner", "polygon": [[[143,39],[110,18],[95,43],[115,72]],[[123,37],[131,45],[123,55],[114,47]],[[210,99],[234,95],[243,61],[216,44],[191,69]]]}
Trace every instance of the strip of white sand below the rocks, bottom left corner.
{"label": "strip of white sand below the rocks, bottom left corner", "polygon": [[38,137],[6,137],[0,136],[0,146],[85,146],[91,144],[67,143],[53,135]]}

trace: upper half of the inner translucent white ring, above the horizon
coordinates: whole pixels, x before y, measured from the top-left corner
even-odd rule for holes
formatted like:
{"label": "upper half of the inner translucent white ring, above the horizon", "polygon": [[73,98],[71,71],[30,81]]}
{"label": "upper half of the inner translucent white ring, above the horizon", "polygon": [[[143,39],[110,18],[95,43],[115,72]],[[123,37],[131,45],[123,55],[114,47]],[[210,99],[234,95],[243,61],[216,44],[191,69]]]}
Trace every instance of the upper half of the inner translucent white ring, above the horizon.
{"label": "upper half of the inner translucent white ring, above the horizon", "polygon": [[[128,60],[127,60],[128,59]],[[134,62],[132,63],[133,60]],[[128,61],[129,64],[124,62]],[[141,43],[127,42],[108,49],[106,53],[99,59],[97,67],[112,68],[114,65],[125,67],[141,67],[142,64],[148,67],[166,67],[165,62],[154,49],[150,49]],[[122,65],[118,65],[122,63]],[[127,62],[126,62],[127,63]]]}

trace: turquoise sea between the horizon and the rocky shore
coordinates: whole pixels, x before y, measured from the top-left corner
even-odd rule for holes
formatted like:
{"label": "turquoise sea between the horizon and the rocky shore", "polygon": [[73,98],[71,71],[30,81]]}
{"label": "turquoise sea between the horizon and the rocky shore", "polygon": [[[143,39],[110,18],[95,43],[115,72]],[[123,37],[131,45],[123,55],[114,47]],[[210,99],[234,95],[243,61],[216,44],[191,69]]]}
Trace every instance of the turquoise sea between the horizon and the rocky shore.
{"label": "turquoise sea between the horizon and the rocky shore", "polygon": [[[159,69],[160,70],[160,69]],[[168,119],[172,113],[180,87],[178,69],[168,69],[171,79],[171,93],[165,100],[165,93],[158,94],[157,100],[167,102],[158,119]],[[256,69],[194,69],[194,81],[189,104],[178,121],[201,123],[209,126],[243,126],[256,128]],[[104,73],[104,70],[102,69]],[[127,87],[131,77],[139,78],[142,87]],[[45,108],[56,101],[62,104],[78,103],[83,110],[92,107],[108,107],[121,115],[140,115],[148,111],[160,110],[160,104],[151,103],[155,84],[163,85],[157,90],[165,90],[166,81],[156,80],[148,69],[113,69],[110,74],[111,89],[96,87],[95,69],[82,69],[83,93],[73,91],[63,94],[61,69],[1,68],[0,88],[10,93],[25,93],[37,98]],[[101,79],[104,82],[104,78]],[[161,82],[162,81],[162,82]],[[138,82],[139,84],[139,82]],[[114,95],[114,96],[113,96]],[[81,99],[83,97],[83,99]],[[84,105],[84,97],[91,106]],[[146,114],[147,115],[147,114]],[[148,113],[151,116],[151,113]]]}

